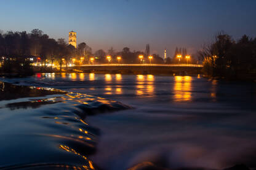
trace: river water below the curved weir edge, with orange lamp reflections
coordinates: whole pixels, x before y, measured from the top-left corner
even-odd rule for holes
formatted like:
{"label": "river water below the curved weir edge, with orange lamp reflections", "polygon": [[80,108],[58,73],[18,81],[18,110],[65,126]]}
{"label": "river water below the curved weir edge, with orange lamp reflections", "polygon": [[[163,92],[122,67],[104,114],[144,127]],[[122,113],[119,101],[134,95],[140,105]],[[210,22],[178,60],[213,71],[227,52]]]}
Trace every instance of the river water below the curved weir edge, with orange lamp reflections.
{"label": "river water below the curved weir edge, with orange lamp reflections", "polygon": [[119,101],[132,109],[86,117],[99,129],[96,152],[103,169],[143,161],[165,168],[256,167],[255,83],[191,76],[36,74],[6,82],[57,88]]}

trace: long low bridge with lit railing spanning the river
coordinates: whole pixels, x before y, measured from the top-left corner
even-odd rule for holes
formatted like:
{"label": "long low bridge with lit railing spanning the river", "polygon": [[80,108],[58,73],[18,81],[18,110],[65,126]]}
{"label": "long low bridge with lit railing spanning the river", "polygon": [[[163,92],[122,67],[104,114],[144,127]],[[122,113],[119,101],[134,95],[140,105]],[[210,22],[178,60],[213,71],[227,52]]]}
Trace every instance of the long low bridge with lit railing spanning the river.
{"label": "long low bridge with lit railing spanning the river", "polygon": [[202,64],[84,64],[68,69],[113,74],[201,74],[202,67]]}

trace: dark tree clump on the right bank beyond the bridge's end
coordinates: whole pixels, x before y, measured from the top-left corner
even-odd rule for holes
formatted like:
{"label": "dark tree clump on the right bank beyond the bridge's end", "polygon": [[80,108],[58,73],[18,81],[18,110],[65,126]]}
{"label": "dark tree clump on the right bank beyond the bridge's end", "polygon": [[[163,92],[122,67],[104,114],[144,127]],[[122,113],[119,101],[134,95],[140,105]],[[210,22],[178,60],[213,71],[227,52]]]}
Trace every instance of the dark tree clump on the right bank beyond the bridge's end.
{"label": "dark tree clump on the right bank beyond the bridge's end", "polygon": [[234,41],[230,35],[219,33],[215,41],[199,51],[204,72],[214,77],[230,79],[256,78],[256,38],[242,36]]}

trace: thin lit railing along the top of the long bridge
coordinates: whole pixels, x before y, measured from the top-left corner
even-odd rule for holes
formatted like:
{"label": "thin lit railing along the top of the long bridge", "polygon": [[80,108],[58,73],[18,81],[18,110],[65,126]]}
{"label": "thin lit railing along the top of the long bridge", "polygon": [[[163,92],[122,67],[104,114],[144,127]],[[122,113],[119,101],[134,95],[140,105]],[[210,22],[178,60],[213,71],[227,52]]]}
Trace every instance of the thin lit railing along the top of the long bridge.
{"label": "thin lit railing along the top of the long bridge", "polygon": [[193,67],[202,68],[202,64],[82,64],[77,66],[161,66],[161,67]]}

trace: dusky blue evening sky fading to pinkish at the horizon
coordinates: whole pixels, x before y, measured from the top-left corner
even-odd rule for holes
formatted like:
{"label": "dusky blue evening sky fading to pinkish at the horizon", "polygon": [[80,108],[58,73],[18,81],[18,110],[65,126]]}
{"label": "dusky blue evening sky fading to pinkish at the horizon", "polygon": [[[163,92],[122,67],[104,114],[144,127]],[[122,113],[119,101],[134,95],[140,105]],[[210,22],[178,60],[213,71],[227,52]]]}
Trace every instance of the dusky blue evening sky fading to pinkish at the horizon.
{"label": "dusky blue evening sky fading to pinkish at the horizon", "polygon": [[234,40],[256,36],[255,0],[1,0],[0,29],[41,29],[68,41],[78,34],[95,52],[113,47],[172,56],[176,47],[196,53],[224,31]]}

